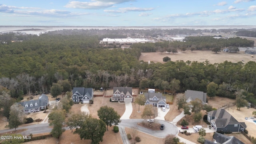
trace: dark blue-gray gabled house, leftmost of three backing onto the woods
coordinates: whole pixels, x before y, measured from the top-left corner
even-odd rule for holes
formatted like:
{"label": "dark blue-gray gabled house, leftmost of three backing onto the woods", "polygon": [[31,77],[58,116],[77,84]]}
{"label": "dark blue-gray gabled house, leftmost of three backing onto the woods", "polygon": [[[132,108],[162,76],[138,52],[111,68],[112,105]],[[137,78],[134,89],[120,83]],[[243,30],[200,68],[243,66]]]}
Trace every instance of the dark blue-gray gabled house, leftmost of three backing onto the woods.
{"label": "dark blue-gray gabled house, leftmost of three backing onto the woods", "polygon": [[84,87],[73,88],[72,100],[73,102],[89,103],[93,99],[93,89]]}

